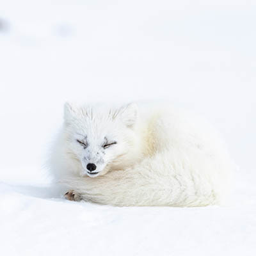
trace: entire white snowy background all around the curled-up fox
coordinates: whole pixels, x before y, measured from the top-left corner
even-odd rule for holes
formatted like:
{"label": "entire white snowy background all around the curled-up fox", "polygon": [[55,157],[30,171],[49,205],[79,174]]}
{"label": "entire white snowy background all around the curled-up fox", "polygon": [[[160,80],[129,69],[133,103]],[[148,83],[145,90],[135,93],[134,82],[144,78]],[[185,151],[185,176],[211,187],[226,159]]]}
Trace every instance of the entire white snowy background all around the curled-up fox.
{"label": "entire white snowy background all around the curled-up fox", "polygon": [[[256,255],[256,2],[0,1],[1,255]],[[43,168],[66,100],[170,100],[239,166],[230,204],[58,198]]]}

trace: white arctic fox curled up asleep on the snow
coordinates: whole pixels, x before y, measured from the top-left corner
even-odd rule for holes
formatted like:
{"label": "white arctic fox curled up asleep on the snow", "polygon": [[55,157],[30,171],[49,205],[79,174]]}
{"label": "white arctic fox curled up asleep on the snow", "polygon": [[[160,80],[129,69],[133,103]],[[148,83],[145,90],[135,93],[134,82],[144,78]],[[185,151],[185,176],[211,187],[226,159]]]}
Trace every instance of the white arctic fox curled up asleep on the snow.
{"label": "white arctic fox curled up asleep on the snow", "polygon": [[68,200],[191,207],[222,204],[234,164],[209,125],[168,104],[66,103],[50,169]]}

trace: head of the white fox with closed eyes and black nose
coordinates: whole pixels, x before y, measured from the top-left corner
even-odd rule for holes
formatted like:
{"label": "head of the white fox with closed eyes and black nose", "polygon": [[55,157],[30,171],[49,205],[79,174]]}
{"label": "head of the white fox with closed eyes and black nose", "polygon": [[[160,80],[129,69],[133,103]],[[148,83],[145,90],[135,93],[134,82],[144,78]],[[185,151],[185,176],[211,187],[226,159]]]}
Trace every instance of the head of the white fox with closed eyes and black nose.
{"label": "head of the white fox with closed eyes and black nose", "polygon": [[138,144],[136,104],[108,108],[66,103],[64,119],[65,152],[80,175],[97,177],[131,165]]}

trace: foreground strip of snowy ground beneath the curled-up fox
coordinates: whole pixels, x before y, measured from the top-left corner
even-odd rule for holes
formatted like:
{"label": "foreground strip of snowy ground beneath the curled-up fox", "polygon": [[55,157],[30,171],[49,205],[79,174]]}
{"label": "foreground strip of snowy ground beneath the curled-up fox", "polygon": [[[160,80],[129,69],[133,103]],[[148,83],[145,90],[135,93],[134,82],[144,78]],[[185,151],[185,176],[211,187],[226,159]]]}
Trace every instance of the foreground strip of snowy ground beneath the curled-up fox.
{"label": "foreground strip of snowy ground beneath the curled-up fox", "polygon": [[[1,184],[5,255],[254,255],[255,188],[225,207],[111,207]],[[253,198],[254,197],[254,198]],[[4,239],[4,240],[3,240]],[[8,254],[9,253],[9,254]]]}

